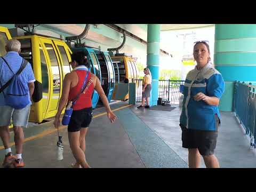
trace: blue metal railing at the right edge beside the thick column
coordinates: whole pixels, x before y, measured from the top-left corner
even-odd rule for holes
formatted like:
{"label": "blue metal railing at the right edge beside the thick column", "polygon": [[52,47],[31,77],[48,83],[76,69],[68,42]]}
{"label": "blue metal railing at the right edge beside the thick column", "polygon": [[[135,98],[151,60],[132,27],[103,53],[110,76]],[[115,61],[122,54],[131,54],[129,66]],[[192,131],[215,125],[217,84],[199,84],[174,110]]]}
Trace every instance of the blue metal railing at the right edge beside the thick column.
{"label": "blue metal railing at the right edge beside the thick column", "polygon": [[255,117],[256,117],[256,86],[235,83],[234,111],[240,124],[245,129],[245,134],[251,138],[251,148],[255,146]]}

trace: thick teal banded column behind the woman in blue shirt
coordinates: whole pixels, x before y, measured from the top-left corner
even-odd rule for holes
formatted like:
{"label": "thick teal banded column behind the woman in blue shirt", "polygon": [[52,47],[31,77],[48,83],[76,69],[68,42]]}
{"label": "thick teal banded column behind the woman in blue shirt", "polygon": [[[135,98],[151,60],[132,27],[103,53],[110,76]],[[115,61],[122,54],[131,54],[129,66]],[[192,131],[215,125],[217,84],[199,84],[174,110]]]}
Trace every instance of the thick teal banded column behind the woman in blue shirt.
{"label": "thick teal banded column behind the woman in blue shirt", "polygon": [[256,82],[256,25],[215,25],[214,65],[226,84],[220,110],[234,111],[234,82]]}

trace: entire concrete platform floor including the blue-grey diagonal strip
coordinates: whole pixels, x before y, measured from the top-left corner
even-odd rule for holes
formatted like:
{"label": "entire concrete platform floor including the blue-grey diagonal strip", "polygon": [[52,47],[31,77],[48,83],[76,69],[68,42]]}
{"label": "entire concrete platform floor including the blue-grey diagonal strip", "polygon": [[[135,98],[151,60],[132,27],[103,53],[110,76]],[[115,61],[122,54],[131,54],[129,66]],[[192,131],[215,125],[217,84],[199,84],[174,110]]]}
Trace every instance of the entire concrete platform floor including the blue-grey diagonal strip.
{"label": "entire concrete platform floor including the blue-grey diagonal strip", "polygon": [[[138,103],[139,104],[139,103]],[[111,105],[116,109],[127,105],[120,102]],[[94,110],[94,116],[105,112]],[[106,115],[94,118],[86,135],[86,159],[92,167],[188,167],[188,151],[181,147],[177,106],[172,111],[137,109],[127,107],[114,112],[118,119],[111,124]],[[222,112],[215,154],[221,167],[256,167],[254,150],[243,134],[233,113]],[[30,124],[25,137],[52,130],[52,122]],[[57,132],[26,141],[23,158],[26,167],[70,167],[74,157],[68,144],[67,129],[60,131],[64,142],[64,159],[56,159]],[[11,134],[11,139],[13,133]],[[13,139],[12,139],[13,140]],[[0,142],[0,146],[2,142]],[[14,146],[12,150],[15,151]],[[4,150],[0,150],[0,157]],[[2,159],[1,159],[2,161]],[[201,167],[205,167],[203,159]]]}

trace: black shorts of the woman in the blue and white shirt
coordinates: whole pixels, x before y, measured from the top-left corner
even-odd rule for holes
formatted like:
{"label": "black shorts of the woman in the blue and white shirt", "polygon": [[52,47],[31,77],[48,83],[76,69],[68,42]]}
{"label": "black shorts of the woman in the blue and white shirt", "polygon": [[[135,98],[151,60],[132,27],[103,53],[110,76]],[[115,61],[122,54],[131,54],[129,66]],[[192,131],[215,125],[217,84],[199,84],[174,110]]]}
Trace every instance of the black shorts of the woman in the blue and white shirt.
{"label": "black shorts of the woman in the blue and white shirt", "polygon": [[198,148],[201,155],[213,155],[216,148],[220,120],[215,115],[216,131],[190,130],[180,124],[182,130],[182,147]]}

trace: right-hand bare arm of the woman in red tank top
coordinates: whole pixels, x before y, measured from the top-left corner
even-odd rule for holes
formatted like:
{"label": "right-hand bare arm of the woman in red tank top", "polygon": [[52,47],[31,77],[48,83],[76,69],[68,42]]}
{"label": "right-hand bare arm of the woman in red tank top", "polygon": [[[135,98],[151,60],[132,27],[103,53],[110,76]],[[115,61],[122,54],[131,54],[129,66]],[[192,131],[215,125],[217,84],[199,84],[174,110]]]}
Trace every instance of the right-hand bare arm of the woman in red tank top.
{"label": "right-hand bare arm of the woman in red tank top", "polygon": [[[96,77],[96,76],[95,76]],[[116,115],[111,111],[109,103],[108,103],[108,99],[101,87],[100,84],[100,80],[98,77],[96,77],[96,84],[94,89],[98,92],[98,94],[100,95],[101,101],[103,102],[103,105],[105,106],[106,110],[107,110],[107,115],[108,115],[108,119],[111,121],[111,123],[114,123],[116,120]]]}

